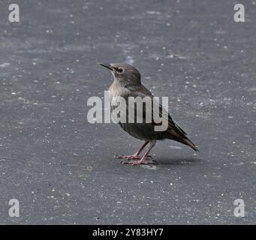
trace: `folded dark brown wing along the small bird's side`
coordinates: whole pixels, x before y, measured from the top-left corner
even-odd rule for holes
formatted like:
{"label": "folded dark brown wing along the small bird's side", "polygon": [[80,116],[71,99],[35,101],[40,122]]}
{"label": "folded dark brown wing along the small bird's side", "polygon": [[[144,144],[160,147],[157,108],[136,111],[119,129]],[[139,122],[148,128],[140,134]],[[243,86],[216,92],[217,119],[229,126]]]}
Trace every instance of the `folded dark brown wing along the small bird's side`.
{"label": "folded dark brown wing along the small bird's side", "polygon": [[[131,97],[140,97],[140,98],[145,98],[145,97],[150,97],[153,98],[153,95],[151,92],[149,92],[148,89],[146,89],[146,87],[144,86],[137,86],[137,87],[128,87],[128,90],[130,90],[129,96]],[[185,131],[182,130],[181,127],[179,127],[174,121],[173,119],[170,117],[170,115],[167,113],[167,111],[161,106],[161,104],[158,104],[155,107],[152,107],[151,113],[147,113],[147,111],[149,111],[150,109],[143,107],[143,120],[146,119],[146,114],[152,114],[152,124],[157,126],[160,124],[166,124],[167,127],[167,132],[170,134],[173,134],[174,136],[183,136],[186,135]],[[134,106],[134,110],[137,111],[136,109],[136,105]],[[155,110],[157,109],[158,110]],[[137,112],[135,112],[137,113]],[[154,121],[154,119],[157,118],[162,118],[162,122],[161,123],[157,123]]]}

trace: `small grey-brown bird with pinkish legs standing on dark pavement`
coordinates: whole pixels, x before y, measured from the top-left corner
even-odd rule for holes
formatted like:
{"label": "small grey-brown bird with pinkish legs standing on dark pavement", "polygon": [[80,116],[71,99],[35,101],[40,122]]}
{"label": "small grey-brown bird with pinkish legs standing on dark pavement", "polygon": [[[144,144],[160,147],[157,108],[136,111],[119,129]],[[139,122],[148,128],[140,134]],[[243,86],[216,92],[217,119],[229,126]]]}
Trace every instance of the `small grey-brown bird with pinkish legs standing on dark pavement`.
{"label": "small grey-brown bird with pinkish legs standing on dark pavement", "polygon": [[[115,97],[124,98],[126,105],[128,105],[129,97],[147,97],[153,99],[152,93],[149,92],[149,90],[146,89],[146,87],[143,86],[143,84],[141,83],[140,72],[136,68],[134,68],[134,66],[124,62],[112,64],[98,62],[98,64],[104,68],[107,68],[113,74],[113,83],[108,89],[110,103]],[[113,107],[112,105],[110,107],[111,113],[113,113],[115,107]],[[155,113],[154,109],[152,110],[143,106],[143,120],[145,120],[146,114],[151,114],[154,116],[155,114],[163,115],[162,113],[167,113],[167,111],[164,109],[164,107],[161,106],[161,104],[158,104],[158,107],[159,112]],[[135,108],[135,111],[136,110],[137,109]],[[126,118],[129,118],[129,115]],[[125,161],[122,161],[122,163],[128,163],[133,166],[146,163],[147,160],[149,160],[149,157],[151,157],[149,156],[149,152],[152,150],[152,148],[155,147],[155,143],[157,140],[172,139],[174,141],[188,145],[189,147],[194,149],[194,151],[199,151],[197,146],[194,145],[194,143],[191,142],[190,139],[188,139],[187,133],[185,133],[185,131],[182,130],[182,128],[179,127],[179,125],[176,124],[175,121],[173,121],[173,118],[171,118],[169,113],[167,113],[165,120],[167,121],[167,129],[163,131],[155,131],[154,127],[158,125],[158,123],[156,123],[154,120],[152,120],[151,122],[143,121],[142,123],[139,123],[137,121],[119,121],[118,123],[123,130],[125,130],[131,136],[134,136],[135,138],[144,141],[143,145],[141,145],[141,147],[134,154],[128,156],[117,156],[118,158],[125,159]],[[146,151],[145,154],[143,154],[142,157],[140,157],[140,153],[148,144],[149,149]]]}

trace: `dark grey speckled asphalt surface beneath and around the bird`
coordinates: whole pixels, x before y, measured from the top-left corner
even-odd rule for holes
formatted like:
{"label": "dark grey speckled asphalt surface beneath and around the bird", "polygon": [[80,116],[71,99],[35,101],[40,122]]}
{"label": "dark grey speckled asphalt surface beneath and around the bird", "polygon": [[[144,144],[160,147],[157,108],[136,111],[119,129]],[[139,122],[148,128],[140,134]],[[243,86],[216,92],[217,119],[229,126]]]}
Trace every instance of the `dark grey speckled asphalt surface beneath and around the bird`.
{"label": "dark grey speckled asphalt surface beneath and around the bird", "polygon": [[[256,221],[256,2],[0,2],[0,223],[252,224]],[[128,62],[200,152],[157,142],[153,166],[113,158],[142,143],[89,124],[91,96]],[[10,199],[20,217],[9,217]],[[235,199],[245,217],[233,214]]]}

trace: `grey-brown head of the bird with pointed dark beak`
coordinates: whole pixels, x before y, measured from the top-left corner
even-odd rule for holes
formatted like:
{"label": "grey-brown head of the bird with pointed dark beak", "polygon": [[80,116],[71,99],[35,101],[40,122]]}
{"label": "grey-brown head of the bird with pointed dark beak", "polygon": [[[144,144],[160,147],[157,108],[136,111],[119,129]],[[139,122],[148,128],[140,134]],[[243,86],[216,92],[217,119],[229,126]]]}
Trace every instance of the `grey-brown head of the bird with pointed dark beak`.
{"label": "grey-brown head of the bird with pointed dark beak", "polygon": [[122,86],[140,86],[140,72],[127,63],[112,63],[110,65],[99,63],[109,69],[113,77]]}

